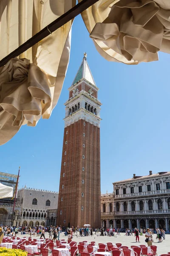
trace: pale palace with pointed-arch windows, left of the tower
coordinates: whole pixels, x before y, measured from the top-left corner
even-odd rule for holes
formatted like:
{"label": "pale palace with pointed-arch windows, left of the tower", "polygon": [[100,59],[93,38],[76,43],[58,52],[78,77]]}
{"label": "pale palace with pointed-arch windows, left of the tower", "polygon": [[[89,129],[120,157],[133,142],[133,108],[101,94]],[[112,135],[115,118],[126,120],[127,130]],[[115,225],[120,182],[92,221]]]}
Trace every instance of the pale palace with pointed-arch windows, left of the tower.
{"label": "pale palace with pointed-arch windows, left of the tower", "polygon": [[[21,207],[20,225],[44,226],[48,210],[57,209],[58,192],[25,187],[18,190],[17,204]],[[56,214],[53,223],[56,223]]]}

